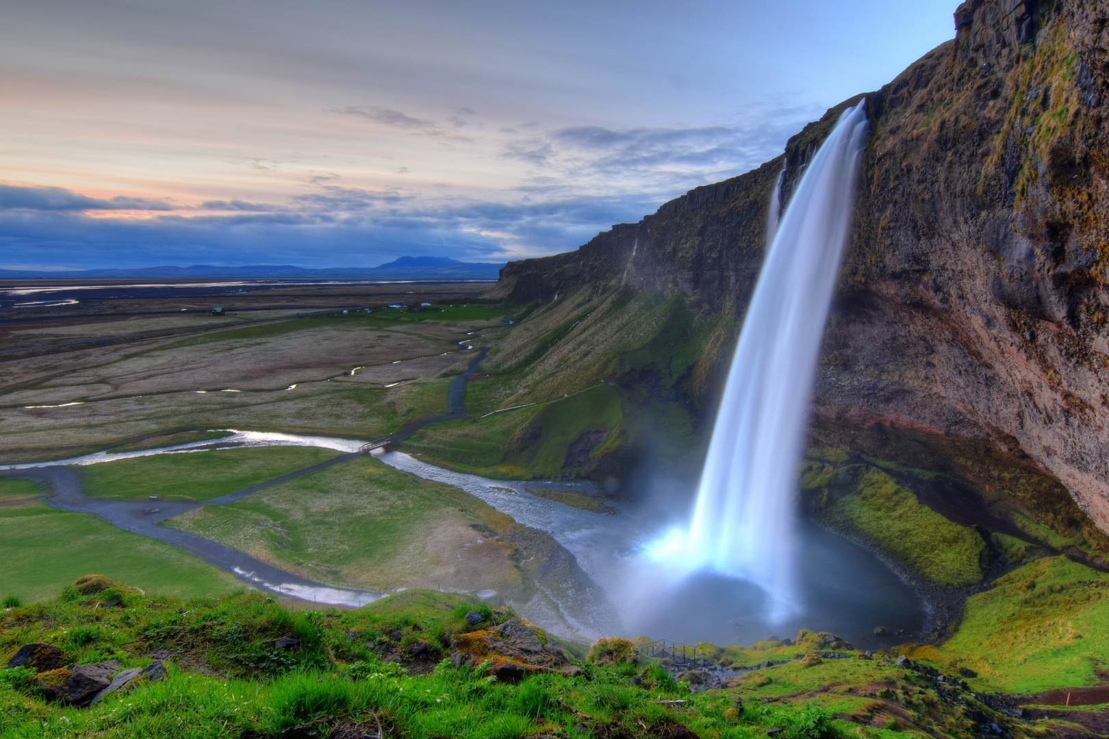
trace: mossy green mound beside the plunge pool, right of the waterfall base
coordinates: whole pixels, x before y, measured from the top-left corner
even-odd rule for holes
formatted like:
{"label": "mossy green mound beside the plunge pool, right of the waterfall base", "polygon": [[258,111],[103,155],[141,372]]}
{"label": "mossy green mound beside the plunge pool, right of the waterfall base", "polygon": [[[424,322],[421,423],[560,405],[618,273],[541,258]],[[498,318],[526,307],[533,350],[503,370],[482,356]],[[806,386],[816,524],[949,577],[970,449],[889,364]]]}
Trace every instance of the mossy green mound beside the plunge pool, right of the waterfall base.
{"label": "mossy green mound beside the plunge pool, right of the waterfall base", "polygon": [[861,535],[925,581],[947,587],[981,581],[988,552],[981,535],[922,504],[885,472],[808,462],[802,486],[818,520]]}

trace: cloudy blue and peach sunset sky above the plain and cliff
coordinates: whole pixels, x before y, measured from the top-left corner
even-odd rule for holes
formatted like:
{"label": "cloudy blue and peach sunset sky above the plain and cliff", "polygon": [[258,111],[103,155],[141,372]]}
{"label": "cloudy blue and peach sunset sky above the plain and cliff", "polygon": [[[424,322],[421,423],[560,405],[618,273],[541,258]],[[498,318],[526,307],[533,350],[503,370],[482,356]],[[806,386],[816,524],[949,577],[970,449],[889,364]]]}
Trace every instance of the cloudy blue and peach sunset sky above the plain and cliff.
{"label": "cloudy blue and peach sunset sky above the plain and cliff", "polygon": [[505,261],[782,152],[955,0],[0,7],[0,268]]}

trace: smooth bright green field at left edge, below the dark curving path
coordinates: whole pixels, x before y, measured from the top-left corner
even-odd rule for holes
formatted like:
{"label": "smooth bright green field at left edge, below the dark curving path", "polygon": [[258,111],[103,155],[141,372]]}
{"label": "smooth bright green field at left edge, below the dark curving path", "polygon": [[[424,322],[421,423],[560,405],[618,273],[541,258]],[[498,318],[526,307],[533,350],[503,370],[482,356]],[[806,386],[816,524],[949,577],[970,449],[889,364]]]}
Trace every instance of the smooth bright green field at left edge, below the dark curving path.
{"label": "smooth bright green field at left edge, below the dark curving path", "polygon": [[0,597],[53,597],[90,572],[156,593],[192,597],[238,587],[233,575],[174,546],[85,513],[43,503],[0,506]]}

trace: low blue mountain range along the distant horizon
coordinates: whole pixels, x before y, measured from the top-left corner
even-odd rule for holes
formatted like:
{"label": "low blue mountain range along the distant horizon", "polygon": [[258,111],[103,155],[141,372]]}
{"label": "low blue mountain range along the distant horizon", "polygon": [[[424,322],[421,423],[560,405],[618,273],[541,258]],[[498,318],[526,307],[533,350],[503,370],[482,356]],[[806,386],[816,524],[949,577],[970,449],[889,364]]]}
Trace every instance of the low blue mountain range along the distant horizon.
{"label": "low blue mountain range along the distant horizon", "polygon": [[496,280],[500,274],[501,264],[484,261],[459,261],[448,257],[400,257],[379,267],[329,267],[325,269],[305,269],[293,265],[247,265],[243,267],[215,267],[212,265],[193,265],[192,267],[142,267],[131,269],[71,269],[67,271],[31,271],[26,269],[0,269],[0,279],[47,277],[51,279],[87,279],[87,278],[199,278],[199,277],[255,277],[255,278],[304,278],[304,279],[373,279],[388,277],[406,277],[411,279],[490,279]]}

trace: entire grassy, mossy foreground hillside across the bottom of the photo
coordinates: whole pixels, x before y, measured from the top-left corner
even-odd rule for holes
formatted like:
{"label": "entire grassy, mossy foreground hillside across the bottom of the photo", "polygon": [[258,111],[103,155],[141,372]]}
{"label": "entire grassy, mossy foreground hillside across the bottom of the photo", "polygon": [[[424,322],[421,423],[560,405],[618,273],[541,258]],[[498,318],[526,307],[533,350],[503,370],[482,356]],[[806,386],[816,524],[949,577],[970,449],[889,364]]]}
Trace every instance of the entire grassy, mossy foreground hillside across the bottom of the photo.
{"label": "entire grassy, mossy foreground hillside across the bottom of the photo", "polygon": [[[0,612],[0,659],[31,642],[61,648],[65,664],[142,667],[170,654],[166,677],[140,679],[82,709],[48,699],[32,669],[0,670],[0,736],[1031,739],[1087,736],[1081,723],[1096,716],[1066,709],[1017,718],[953,669],[896,664],[812,632],[791,646],[699,645],[723,665],[762,660],[733,677],[725,670],[704,689],[703,674],[658,658],[582,661],[578,645],[540,629],[551,649],[576,653],[573,666],[512,682],[489,674],[491,660],[452,658],[451,645],[515,617],[468,595],[411,591],[348,612],[291,613],[242,592],[182,601],[103,581],[96,588],[106,589],[68,587],[51,603]],[[996,597],[1014,602],[1007,591]],[[480,623],[467,620],[469,612]],[[279,637],[297,643],[282,648]]]}

